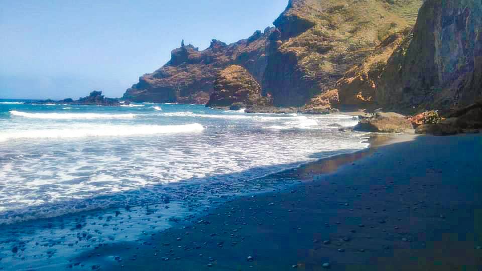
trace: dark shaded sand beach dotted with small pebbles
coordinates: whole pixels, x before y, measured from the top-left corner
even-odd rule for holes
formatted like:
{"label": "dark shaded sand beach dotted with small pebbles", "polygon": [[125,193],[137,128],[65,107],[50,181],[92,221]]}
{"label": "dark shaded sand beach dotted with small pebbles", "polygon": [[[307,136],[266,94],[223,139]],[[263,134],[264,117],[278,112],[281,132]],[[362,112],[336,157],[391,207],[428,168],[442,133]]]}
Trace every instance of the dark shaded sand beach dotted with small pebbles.
{"label": "dark shaded sand beach dotted with small pebbles", "polygon": [[280,173],[300,184],[71,258],[101,270],[480,270],[482,137],[413,141]]}

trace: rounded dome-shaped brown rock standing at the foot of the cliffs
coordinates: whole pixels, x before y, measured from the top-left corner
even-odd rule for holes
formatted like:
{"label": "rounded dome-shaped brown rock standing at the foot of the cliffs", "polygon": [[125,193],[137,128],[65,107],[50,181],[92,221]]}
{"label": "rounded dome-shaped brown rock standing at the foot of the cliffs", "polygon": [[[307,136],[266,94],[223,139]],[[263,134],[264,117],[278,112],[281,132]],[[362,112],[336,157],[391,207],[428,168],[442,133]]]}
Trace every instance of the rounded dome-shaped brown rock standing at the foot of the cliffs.
{"label": "rounded dome-shaped brown rock standing at the foot of the cliffs", "polygon": [[271,104],[269,97],[261,95],[258,81],[246,70],[238,65],[231,65],[222,70],[214,82],[214,92],[206,106],[243,107],[248,105],[267,106]]}

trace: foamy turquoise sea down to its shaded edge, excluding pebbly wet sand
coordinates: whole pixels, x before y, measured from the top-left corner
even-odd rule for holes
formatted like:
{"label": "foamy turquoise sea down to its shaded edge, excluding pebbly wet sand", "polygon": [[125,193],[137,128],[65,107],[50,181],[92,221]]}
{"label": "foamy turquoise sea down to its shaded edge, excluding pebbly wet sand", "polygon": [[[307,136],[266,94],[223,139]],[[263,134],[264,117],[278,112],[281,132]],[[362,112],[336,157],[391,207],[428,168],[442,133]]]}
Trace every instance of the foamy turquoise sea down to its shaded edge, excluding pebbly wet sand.
{"label": "foamy turquoise sea down to its shaded edge, excluding pebbly wet sand", "polygon": [[158,199],[129,193],[215,182],[221,175],[253,179],[363,149],[360,134],[338,131],[355,123],[344,115],[247,114],[200,105],[0,100],[0,224],[142,204]]}

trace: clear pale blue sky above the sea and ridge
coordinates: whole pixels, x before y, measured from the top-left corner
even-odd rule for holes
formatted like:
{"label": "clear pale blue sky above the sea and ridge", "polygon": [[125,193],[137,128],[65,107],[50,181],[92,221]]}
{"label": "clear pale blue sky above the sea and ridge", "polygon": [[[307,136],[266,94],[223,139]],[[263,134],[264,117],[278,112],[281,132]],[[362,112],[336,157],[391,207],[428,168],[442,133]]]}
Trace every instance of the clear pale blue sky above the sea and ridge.
{"label": "clear pale blue sky above the sea and ridge", "polygon": [[0,98],[121,97],[170,59],[272,26],[288,0],[0,0]]}

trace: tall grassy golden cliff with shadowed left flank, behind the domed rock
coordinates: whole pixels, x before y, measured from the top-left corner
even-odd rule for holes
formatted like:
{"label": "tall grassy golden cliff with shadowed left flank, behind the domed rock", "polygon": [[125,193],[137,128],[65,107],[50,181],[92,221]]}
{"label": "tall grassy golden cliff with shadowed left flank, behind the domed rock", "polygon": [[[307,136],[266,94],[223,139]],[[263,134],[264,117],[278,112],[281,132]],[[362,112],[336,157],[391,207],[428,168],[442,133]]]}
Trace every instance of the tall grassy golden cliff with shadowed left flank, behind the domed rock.
{"label": "tall grassy golden cliff with shadowed left flank, behind the domed rock", "polygon": [[279,106],[300,106],[311,98],[312,106],[332,106],[337,82],[387,37],[412,26],[421,3],[291,0],[274,22],[263,91]]}

